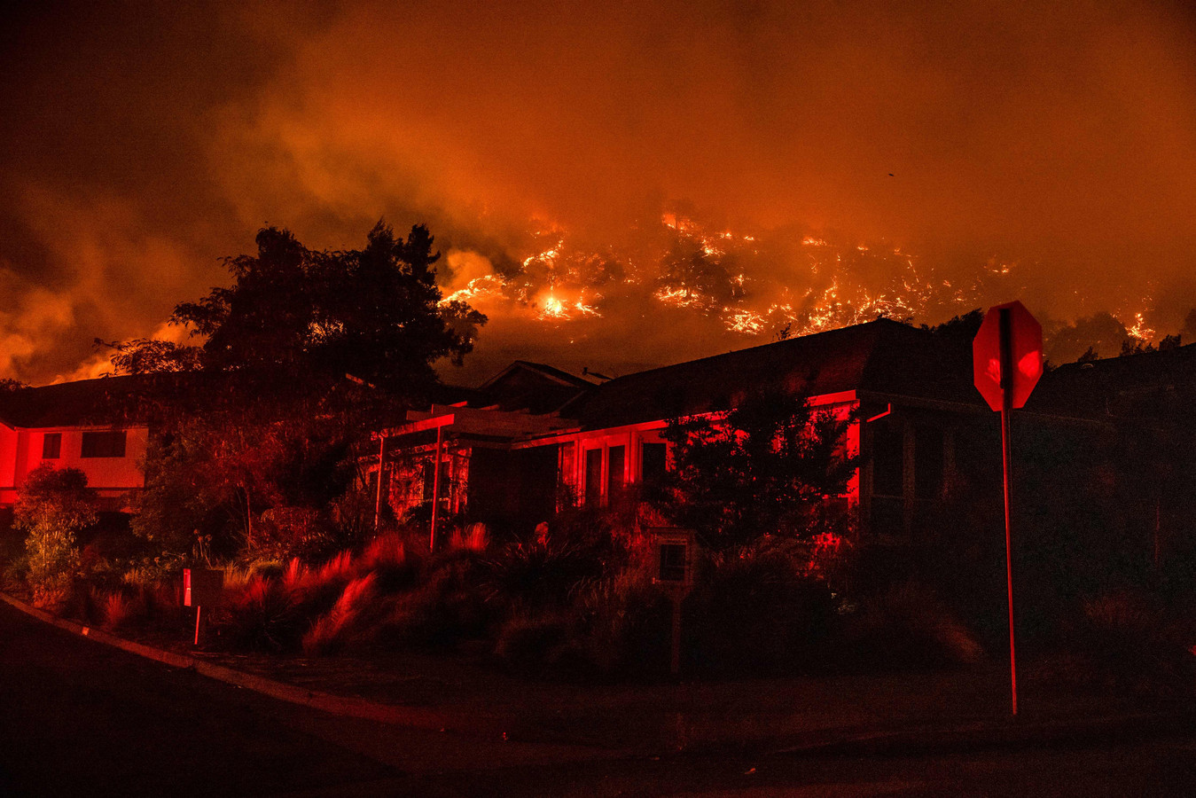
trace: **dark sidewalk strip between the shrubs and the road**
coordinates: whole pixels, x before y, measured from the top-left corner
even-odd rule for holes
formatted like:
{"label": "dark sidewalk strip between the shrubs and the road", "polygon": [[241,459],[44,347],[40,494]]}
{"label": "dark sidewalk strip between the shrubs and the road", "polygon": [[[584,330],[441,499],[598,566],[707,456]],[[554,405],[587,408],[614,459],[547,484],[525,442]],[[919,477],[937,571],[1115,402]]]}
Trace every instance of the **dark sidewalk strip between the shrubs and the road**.
{"label": "dark sidewalk strip between the shrubs and the road", "polygon": [[[1051,687],[1019,672],[1019,717],[1000,663],[883,676],[580,686],[504,675],[460,656],[187,653],[124,641],[2,596],[60,628],[288,701],[411,727],[582,744],[627,755],[916,754],[1063,745],[1196,730],[1196,707]],[[155,656],[154,652],[158,654]]]}

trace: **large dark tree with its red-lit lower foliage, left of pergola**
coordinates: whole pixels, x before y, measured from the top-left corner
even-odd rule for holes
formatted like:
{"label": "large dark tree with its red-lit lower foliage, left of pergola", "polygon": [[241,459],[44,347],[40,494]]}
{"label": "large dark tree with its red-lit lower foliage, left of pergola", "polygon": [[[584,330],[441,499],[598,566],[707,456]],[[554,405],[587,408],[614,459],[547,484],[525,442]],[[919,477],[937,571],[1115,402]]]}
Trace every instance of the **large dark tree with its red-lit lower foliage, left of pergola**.
{"label": "large dark tree with its red-lit lower foliage, left of pergola", "polygon": [[445,303],[423,226],[379,223],[361,250],[319,252],[286,230],[226,260],[234,281],[171,317],[202,339],[114,345],[118,371],[158,382],[160,435],[134,531],[166,550],[210,538],[252,548],[262,512],[319,510],[355,475],[352,443],[403,401],[422,400],[433,364],[459,363],[486,317]]}

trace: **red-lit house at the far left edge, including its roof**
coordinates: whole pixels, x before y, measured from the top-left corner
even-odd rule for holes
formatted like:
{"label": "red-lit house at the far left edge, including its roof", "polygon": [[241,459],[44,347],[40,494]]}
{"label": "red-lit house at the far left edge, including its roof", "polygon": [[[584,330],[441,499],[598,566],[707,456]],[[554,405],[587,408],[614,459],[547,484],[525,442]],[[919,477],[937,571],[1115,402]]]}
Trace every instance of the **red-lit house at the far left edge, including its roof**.
{"label": "red-lit house at the far left edge, including its roof", "polygon": [[104,377],[0,392],[0,508],[11,507],[43,463],[78,468],[120,510],[145,486],[148,426],[136,412],[144,380]]}

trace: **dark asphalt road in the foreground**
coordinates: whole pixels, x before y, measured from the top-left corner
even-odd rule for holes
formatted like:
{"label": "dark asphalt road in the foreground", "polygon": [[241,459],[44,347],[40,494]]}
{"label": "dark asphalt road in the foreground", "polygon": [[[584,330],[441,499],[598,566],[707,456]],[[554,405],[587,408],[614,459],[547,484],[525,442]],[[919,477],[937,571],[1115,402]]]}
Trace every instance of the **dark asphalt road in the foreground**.
{"label": "dark asphalt road in the foreground", "polygon": [[328,715],[0,604],[0,796],[1191,796],[1196,739],[917,757],[627,757]]}

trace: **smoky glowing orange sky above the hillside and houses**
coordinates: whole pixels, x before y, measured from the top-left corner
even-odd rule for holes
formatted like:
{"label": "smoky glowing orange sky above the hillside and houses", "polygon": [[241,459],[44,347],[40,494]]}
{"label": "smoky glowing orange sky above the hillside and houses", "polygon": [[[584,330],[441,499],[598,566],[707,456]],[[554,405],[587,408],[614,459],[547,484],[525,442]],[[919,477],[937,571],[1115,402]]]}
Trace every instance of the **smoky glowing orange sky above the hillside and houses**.
{"label": "smoky glowing orange sky above the hillside and houses", "polygon": [[[518,262],[533,218],[624,246],[683,203],[944,275],[1015,261],[1055,318],[1176,330],[1196,306],[1180,4],[240,5],[8,12],[0,376],[85,373],[93,337],[155,333],[267,223],[343,248],[379,217],[427,221],[457,262]],[[582,345],[492,309],[477,367],[728,348],[628,307]]]}

